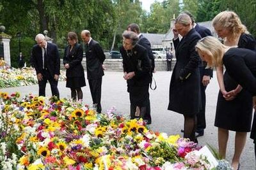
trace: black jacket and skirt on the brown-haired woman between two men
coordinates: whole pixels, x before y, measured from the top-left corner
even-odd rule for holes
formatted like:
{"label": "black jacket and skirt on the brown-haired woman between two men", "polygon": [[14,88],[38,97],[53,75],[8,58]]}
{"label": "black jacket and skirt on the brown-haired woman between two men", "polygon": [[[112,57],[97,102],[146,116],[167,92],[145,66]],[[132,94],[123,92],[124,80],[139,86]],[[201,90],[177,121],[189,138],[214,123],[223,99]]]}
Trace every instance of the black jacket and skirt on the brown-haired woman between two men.
{"label": "black jacket and skirt on the brown-haired woman between two men", "polygon": [[70,51],[70,45],[65,48],[63,57],[63,64],[69,64],[69,68],[66,71],[67,83],[66,87],[79,88],[86,86],[84,78],[84,68],[82,65],[83,60],[83,48],[81,45],[74,45]]}

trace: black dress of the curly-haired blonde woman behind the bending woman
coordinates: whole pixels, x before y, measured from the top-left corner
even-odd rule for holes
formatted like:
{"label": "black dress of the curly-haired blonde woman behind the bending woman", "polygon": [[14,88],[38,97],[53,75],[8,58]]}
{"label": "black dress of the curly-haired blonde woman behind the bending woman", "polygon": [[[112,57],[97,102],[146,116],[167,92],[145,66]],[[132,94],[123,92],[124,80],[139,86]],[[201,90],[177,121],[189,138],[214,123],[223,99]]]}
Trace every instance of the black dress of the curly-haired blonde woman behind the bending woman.
{"label": "black dress of the curly-haired blonde woman behind the bending woman", "polygon": [[[255,39],[249,34],[241,34],[239,38],[238,48],[248,48],[255,50]],[[232,57],[241,57],[243,53],[234,50],[228,50],[224,57],[232,55]],[[232,53],[231,53],[232,52]],[[233,53],[234,52],[234,53]],[[223,57],[223,59],[224,59]],[[255,56],[256,60],[256,56]],[[234,73],[240,73],[243,69],[239,69]],[[234,76],[230,76],[228,71],[224,73],[224,85],[228,91],[236,89],[237,85]],[[243,87],[243,86],[242,86]],[[221,92],[218,95],[218,102],[216,108],[216,117],[214,125],[223,129],[237,132],[250,132],[252,122],[252,94],[248,90],[244,89],[237,94],[236,98],[232,101],[226,101]]]}

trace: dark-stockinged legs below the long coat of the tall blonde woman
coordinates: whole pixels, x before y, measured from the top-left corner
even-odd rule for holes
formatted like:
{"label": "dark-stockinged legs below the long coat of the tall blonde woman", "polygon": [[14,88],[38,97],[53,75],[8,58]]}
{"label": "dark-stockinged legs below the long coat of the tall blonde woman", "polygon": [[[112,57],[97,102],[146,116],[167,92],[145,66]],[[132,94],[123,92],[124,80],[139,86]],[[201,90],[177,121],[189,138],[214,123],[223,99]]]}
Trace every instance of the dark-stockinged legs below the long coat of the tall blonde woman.
{"label": "dark-stockinged legs below the long coat of the tall blonde woman", "polygon": [[184,115],[184,138],[197,142],[195,139],[196,115]]}

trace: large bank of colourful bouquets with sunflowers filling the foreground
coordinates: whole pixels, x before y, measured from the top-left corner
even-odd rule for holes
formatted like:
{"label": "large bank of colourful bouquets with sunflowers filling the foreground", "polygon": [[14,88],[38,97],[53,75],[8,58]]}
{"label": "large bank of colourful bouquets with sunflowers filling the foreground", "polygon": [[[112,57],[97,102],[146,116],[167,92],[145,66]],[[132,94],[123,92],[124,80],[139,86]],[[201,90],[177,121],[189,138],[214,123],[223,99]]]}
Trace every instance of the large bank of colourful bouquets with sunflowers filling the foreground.
{"label": "large bank of colourful bouquets with sunflowers filling the foreground", "polygon": [[200,147],[70,99],[0,92],[0,169],[209,169]]}

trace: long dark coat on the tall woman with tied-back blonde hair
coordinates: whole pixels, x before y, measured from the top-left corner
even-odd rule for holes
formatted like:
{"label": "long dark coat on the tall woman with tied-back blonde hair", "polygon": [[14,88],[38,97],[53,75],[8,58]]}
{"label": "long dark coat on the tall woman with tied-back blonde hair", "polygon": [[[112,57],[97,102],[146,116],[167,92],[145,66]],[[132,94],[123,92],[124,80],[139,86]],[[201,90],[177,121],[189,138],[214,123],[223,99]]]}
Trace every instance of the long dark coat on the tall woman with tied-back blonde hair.
{"label": "long dark coat on the tall woman with tied-back blonde hair", "polygon": [[201,62],[195,45],[201,36],[191,29],[181,41],[173,41],[177,62],[170,83],[168,110],[193,115],[201,108],[200,73]]}

